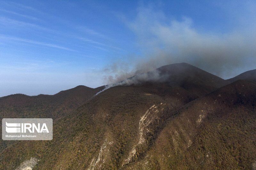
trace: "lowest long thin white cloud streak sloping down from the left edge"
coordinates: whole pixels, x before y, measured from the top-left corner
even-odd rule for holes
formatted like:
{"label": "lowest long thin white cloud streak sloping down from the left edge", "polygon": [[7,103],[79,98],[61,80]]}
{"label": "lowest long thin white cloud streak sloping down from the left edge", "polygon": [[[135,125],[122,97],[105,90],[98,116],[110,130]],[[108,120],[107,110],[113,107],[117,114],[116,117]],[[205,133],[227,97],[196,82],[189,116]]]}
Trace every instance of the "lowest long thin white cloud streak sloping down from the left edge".
{"label": "lowest long thin white cloud streak sloping down from the left edge", "polygon": [[60,45],[56,45],[56,44],[45,43],[45,42],[40,42],[40,41],[33,41],[33,40],[28,40],[28,39],[23,39],[23,38],[18,38],[18,37],[10,37],[10,36],[6,36],[6,35],[2,35],[2,34],[0,34],[0,38],[5,39],[5,40],[14,40],[14,41],[21,41],[21,42],[26,42],[26,43],[30,43],[30,44],[47,46],[47,47],[52,47],[52,48],[59,48],[59,49],[64,49],[64,50],[68,50],[68,51],[76,51],[76,50],[66,48],[66,47],[63,47]]}

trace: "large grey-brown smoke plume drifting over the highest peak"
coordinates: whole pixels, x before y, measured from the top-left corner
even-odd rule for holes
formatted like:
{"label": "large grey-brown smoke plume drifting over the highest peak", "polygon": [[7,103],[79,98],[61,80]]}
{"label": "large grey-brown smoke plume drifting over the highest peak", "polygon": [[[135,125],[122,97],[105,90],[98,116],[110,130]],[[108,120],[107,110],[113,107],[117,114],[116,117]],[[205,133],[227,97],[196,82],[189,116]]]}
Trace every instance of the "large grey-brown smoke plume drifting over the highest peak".
{"label": "large grey-brown smoke plume drifting over the highest peak", "polygon": [[136,83],[137,79],[125,79],[171,63],[189,63],[221,78],[255,69],[256,11],[253,9],[256,9],[256,3],[244,4],[236,10],[247,13],[237,13],[236,24],[226,33],[201,31],[189,17],[169,19],[153,8],[138,8],[134,20],[124,22],[137,36],[143,55],[137,60],[131,57],[126,63],[116,62],[108,66],[105,69],[108,73],[106,83]]}

